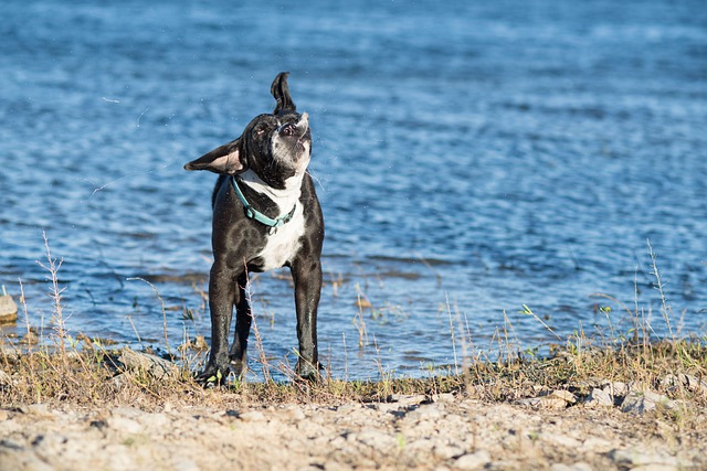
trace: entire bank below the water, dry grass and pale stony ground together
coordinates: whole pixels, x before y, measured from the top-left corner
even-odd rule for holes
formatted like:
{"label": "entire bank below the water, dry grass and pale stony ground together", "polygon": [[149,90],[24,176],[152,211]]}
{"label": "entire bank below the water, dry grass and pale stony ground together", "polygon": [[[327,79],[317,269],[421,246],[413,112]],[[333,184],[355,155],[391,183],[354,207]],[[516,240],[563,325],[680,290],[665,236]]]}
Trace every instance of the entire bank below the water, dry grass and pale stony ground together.
{"label": "entire bank below the water, dry grass and pale stony ground together", "polygon": [[0,352],[0,471],[707,469],[699,342],[212,389],[119,353]]}

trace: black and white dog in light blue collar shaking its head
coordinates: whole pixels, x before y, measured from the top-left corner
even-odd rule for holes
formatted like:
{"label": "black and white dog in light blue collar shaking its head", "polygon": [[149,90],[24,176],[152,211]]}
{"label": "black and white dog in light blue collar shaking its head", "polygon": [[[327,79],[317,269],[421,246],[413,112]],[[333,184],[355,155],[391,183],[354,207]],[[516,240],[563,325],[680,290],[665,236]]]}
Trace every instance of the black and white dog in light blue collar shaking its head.
{"label": "black and white dog in light blue collar shaking its head", "polygon": [[[211,351],[202,384],[221,382],[247,367],[252,311],[249,272],[289,267],[297,312],[299,377],[319,374],[317,309],[321,293],[324,217],[307,165],[312,158],[309,116],[289,95],[287,72],[275,77],[272,114],[255,117],[238,139],[184,165],[219,174],[212,195],[213,265],[209,277]],[[229,330],[235,306],[235,335]]]}

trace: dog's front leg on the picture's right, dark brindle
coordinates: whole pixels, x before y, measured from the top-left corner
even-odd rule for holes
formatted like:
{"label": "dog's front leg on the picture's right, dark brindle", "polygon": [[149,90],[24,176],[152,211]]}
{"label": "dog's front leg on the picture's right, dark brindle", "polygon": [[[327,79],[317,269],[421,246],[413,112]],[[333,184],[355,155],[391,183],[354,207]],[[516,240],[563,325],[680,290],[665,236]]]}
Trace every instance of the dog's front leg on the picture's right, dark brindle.
{"label": "dog's front leg on the picture's right, dark brindle", "polygon": [[300,259],[292,266],[297,310],[299,358],[296,373],[307,379],[319,374],[317,349],[317,307],[321,295],[321,264],[318,259]]}

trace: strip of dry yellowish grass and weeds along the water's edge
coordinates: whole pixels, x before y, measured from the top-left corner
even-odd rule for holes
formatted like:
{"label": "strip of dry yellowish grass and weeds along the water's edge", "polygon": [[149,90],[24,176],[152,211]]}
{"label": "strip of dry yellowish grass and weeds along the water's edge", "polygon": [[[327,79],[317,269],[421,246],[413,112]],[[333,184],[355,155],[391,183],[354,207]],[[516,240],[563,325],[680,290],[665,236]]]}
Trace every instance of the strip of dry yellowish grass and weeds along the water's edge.
{"label": "strip of dry yellowish grass and weeds along the water's edge", "polygon": [[[687,375],[698,381],[707,377],[707,347],[705,339],[679,338],[671,327],[671,309],[663,293],[655,254],[651,248],[653,274],[661,296],[661,314],[667,322],[668,335],[658,338],[645,322],[645,312],[635,303],[634,309],[621,304],[614,298],[602,296],[631,314],[633,329],[630,334],[619,334],[609,322],[609,332],[588,336],[581,325],[566,341],[555,333],[558,343],[547,355],[539,356],[532,350],[523,351],[508,317],[495,338],[497,352],[492,356],[469,354],[472,351],[468,322],[466,335],[454,332],[452,307],[450,334],[454,354],[461,353],[462,367],[453,365],[447,372],[436,372],[428,378],[397,378],[383,371],[379,361],[378,381],[348,381],[331,377],[330,372],[316,383],[296,378],[287,366],[268,364],[268,358],[256,342],[258,362],[265,381],[247,383],[234,381],[228,387],[203,389],[192,379],[196,361],[183,356],[176,372],[157,377],[146,367],[127,367],[116,360],[118,352],[98,340],[82,335],[73,338],[63,324],[62,289],[57,283],[57,263],[51,255],[45,239],[48,261],[41,264],[50,272],[50,295],[54,300],[54,329],[49,339],[36,345],[0,343],[0,404],[19,407],[27,404],[72,404],[77,406],[131,404],[144,409],[172,405],[209,405],[233,407],[238,404],[318,403],[341,404],[348,402],[382,402],[391,395],[435,396],[445,393],[464,394],[486,402],[513,402],[535,397],[541,390],[570,390],[581,399],[594,385],[602,382],[642,384],[652,390],[679,399],[682,409],[672,417],[679,428],[688,428],[694,415],[690,410],[707,407],[707,389],[690,384],[666,381]],[[154,287],[152,287],[154,288]],[[157,292],[157,289],[154,288]],[[359,292],[359,300],[365,299]],[[158,299],[159,293],[157,293]],[[612,311],[602,307],[611,320]],[[23,304],[27,319],[27,306]],[[454,308],[455,317],[458,311]],[[361,310],[362,312],[362,310]],[[547,327],[540,317],[524,306],[526,314]],[[255,327],[255,325],[254,325]],[[365,335],[362,313],[361,338]],[[462,329],[464,331],[464,329]],[[257,331],[256,341],[258,340]],[[468,336],[468,338],[467,338]],[[458,341],[458,347],[455,343]],[[48,341],[49,340],[49,341]],[[360,339],[359,339],[360,341]],[[1,342],[1,341],[0,341]],[[165,340],[169,345],[168,340]],[[179,349],[178,349],[179,350]],[[461,351],[461,352],[460,352]],[[173,349],[170,352],[175,352]],[[463,353],[462,353],[463,352]],[[380,358],[379,358],[380,360]],[[270,372],[281,368],[288,382],[272,379]],[[579,400],[581,403],[581,400]]]}

